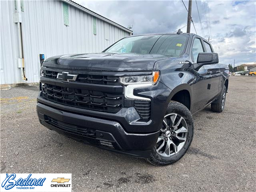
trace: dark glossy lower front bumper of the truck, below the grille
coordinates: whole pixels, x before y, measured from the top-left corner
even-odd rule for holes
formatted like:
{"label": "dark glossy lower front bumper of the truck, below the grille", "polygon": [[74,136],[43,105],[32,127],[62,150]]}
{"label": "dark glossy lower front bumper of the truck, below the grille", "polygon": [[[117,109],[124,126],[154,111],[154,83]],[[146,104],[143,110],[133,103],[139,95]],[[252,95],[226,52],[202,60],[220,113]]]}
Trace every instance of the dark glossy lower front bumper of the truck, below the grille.
{"label": "dark glossy lower front bumper of the truck, below the grille", "polygon": [[81,142],[135,157],[148,157],[159,134],[130,134],[118,122],[72,114],[40,103],[37,104],[37,112],[40,123],[51,130]]}

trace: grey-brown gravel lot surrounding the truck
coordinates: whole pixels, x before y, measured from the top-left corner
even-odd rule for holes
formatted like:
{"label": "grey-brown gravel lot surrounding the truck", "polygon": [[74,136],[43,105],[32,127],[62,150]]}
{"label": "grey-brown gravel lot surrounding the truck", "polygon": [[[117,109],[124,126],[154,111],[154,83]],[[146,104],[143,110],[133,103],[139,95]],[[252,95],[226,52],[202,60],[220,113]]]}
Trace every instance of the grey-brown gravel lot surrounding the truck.
{"label": "grey-brown gravel lot surrounding the truck", "polygon": [[224,112],[194,115],[190,149],[164,167],[48,130],[37,95],[35,86],[1,91],[1,173],[72,173],[74,192],[256,190],[255,77],[231,76]]}

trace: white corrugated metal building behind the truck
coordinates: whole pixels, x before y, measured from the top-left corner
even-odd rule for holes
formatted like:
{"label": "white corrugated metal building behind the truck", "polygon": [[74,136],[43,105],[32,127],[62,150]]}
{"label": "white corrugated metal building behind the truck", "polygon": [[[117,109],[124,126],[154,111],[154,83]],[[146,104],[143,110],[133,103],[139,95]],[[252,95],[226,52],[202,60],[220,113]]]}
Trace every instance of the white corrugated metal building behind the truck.
{"label": "white corrugated metal building behind the truck", "polygon": [[0,84],[38,82],[39,54],[101,52],[132,35],[70,0],[0,1],[0,10]]}

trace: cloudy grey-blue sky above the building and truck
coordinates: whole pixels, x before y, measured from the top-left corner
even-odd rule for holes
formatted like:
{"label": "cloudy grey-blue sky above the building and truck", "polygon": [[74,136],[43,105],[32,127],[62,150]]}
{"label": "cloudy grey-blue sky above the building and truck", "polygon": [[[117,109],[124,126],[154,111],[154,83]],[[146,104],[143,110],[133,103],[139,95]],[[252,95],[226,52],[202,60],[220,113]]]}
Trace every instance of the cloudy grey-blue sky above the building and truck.
{"label": "cloudy grey-blue sky above the building and truck", "polygon": [[[127,27],[134,34],[174,32],[186,25],[187,11],[176,1],[85,1],[86,8]],[[186,7],[188,1],[184,0]],[[256,61],[256,1],[192,1],[192,19],[198,35],[208,39],[220,63],[236,65]],[[209,8],[209,9],[208,9]],[[210,16],[210,17],[209,17]],[[203,32],[202,32],[203,30]],[[186,32],[186,27],[182,28]],[[193,25],[191,32],[196,33]]]}

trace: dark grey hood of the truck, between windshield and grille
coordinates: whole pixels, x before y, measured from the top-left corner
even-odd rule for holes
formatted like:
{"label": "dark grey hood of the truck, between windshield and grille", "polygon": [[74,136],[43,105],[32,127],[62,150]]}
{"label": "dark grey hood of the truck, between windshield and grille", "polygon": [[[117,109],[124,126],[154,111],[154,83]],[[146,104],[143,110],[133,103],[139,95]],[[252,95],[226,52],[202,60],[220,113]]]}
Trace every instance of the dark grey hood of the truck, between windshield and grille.
{"label": "dark grey hood of the truck, between windshield and grille", "polygon": [[153,54],[111,54],[102,52],[54,56],[45,60],[43,66],[72,70],[148,71],[153,70],[156,61],[164,58],[168,57]]}

